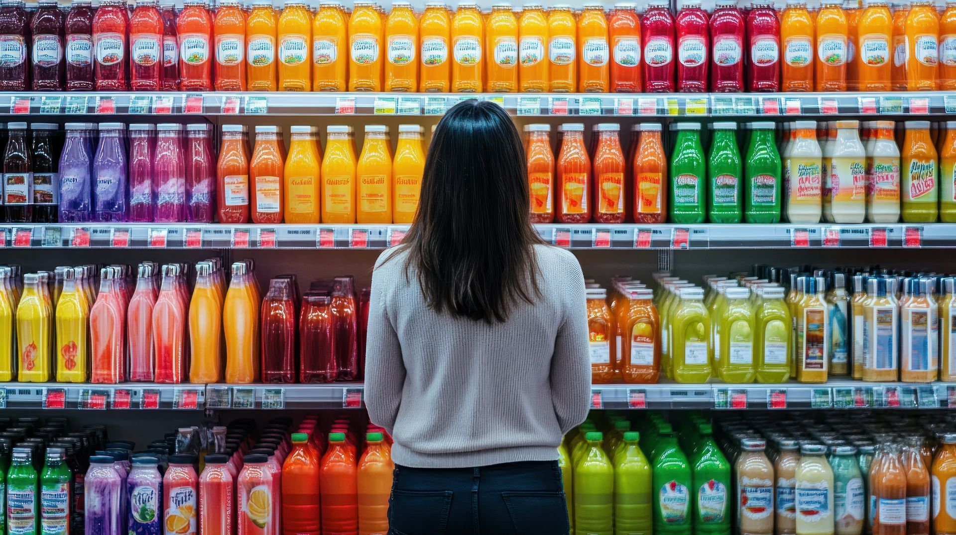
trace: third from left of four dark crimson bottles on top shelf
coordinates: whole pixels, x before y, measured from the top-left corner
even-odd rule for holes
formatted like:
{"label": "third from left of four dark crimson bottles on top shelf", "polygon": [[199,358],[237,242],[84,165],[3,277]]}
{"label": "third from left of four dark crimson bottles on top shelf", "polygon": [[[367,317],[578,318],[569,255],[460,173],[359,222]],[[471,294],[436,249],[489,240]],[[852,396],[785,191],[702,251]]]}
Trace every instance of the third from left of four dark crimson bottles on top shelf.
{"label": "third from left of four dark crimson bottles on top shelf", "polygon": [[710,16],[710,91],[744,91],[744,15],[736,2],[721,0]]}

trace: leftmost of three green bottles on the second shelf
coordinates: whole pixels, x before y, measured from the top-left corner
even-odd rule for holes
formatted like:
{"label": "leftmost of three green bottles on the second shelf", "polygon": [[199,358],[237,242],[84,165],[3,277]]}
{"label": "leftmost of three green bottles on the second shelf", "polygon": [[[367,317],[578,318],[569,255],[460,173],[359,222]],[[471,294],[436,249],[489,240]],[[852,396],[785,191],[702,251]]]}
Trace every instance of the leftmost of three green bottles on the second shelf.
{"label": "leftmost of three green bottles on the second shelf", "polygon": [[670,159],[671,223],[704,223],[706,162],[701,146],[701,123],[679,122]]}

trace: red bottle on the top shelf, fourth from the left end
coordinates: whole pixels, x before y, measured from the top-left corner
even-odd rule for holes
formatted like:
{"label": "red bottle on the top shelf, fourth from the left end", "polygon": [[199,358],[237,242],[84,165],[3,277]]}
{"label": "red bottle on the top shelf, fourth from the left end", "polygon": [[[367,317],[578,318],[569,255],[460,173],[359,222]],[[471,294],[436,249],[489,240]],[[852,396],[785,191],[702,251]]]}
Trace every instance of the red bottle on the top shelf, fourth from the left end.
{"label": "red bottle on the top shelf, fourth from the left end", "polygon": [[94,78],[97,91],[126,91],[126,35],[129,21],[123,0],[103,0],[93,17]]}

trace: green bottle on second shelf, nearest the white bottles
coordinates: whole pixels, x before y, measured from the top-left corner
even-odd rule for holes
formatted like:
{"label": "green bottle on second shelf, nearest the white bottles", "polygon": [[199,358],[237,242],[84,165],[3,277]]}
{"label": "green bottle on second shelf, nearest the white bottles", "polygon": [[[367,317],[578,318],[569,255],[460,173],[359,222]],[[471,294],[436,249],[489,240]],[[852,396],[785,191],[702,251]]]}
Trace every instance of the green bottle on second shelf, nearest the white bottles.
{"label": "green bottle on second shelf, nearest the white bottles", "polygon": [[750,147],[744,161],[744,221],[780,223],[780,153],[773,142],[771,121],[751,123]]}

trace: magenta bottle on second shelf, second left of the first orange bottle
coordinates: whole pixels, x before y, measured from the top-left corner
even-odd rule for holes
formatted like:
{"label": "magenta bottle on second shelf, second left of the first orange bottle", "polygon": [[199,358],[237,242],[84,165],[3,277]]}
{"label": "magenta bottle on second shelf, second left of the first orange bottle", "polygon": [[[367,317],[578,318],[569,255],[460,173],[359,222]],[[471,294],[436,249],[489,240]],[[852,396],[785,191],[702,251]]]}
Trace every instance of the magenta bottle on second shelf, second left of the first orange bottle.
{"label": "magenta bottle on second shelf, second left of the first orange bottle", "polygon": [[182,124],[156,125],[156,152],[153,154],[153,187],[157,223],[185,221],[185,162],[180,134]]}

